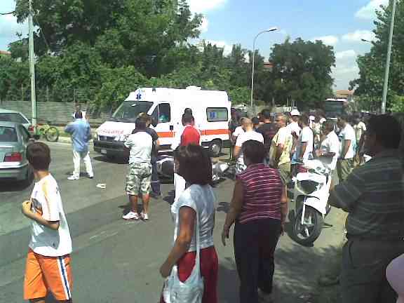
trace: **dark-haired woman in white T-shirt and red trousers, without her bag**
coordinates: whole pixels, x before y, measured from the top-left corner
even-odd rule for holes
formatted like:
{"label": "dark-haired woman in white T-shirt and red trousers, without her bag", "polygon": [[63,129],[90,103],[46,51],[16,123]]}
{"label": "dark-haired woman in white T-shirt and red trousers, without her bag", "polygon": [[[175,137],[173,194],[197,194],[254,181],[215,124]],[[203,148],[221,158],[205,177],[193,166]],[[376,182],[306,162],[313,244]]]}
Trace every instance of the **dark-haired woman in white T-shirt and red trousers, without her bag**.
{"label": "dark-haired woman in white T-shirt and red trousers, without her bag", "polygon": [[[163,278],[177,265],[178,278],[184,282],[191,275],[196,260],[196,233],[199,233],[201,276],[203,277],[203,303],[217,302],[218,260],[213,244],[216,197],[210,186],[212,163],[207,152],[199,145],[178,147],[174,153],[176,173],[187,182],[187,189],[171,206],[175,221],[174,245],[161,265]],[[196,220],[198,213],[198,226]],[[161,299],[163,302],[163,299]]]}

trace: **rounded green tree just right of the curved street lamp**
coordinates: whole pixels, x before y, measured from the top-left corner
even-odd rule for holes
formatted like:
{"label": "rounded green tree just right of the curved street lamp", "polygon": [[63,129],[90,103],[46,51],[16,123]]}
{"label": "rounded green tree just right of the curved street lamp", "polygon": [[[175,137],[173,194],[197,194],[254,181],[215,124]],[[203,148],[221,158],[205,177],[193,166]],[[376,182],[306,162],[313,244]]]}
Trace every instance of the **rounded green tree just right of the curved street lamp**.
{"label": "rounded green tree just right of the curved street lamp", "polygon": [[332,93],[331,68],[335,66],[332,46],[321,41],[286,39],[274,46],[270,61],[274,65],[274,94],[281,100],[292,98],[298,107],[309,109],[321,107]]}

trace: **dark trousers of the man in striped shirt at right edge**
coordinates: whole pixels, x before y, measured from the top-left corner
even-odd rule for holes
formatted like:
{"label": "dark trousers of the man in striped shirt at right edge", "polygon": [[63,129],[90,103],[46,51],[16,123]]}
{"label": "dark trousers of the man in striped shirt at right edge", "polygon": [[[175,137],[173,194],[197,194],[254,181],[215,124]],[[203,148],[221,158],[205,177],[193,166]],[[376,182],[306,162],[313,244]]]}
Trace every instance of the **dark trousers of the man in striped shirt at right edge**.
{"label": "dark trousers of the man in striped shirt at right edge", "polygon": [[342,303],[395,303],[386,267],[404,253],[404,241],[349,238],[342,251]]}

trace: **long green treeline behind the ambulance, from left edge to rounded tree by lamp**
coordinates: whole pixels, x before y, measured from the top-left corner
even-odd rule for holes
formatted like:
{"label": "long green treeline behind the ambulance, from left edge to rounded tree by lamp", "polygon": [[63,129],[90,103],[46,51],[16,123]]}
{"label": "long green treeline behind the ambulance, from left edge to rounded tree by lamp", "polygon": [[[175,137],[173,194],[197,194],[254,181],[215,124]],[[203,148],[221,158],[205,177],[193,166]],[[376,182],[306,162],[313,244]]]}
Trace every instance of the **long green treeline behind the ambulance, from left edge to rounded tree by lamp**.
{"label": "long green treeline behind the ambulance, from left edge to rounded tree by lamp", "polygon": [[[202,15],[192,14],[187,0],[35,0],[33,5],[39,101],[93,102],[112,111],[139,86],[194,85],[226,90],[234,104],[250,102],[253,53],[241,45],[229,55],[206,41],[191,45]],[[18,20],[27,13],[27,0],[17,0]],[[17,100],[29,85],[27,39],[20,36],[9,50],[13,59],[0,60],[0,97]],[[286,41],[274,47],[271,60],[273,71],[256,51],[256,104],[292,97],[309,107],[330,92],[332,48]]]}

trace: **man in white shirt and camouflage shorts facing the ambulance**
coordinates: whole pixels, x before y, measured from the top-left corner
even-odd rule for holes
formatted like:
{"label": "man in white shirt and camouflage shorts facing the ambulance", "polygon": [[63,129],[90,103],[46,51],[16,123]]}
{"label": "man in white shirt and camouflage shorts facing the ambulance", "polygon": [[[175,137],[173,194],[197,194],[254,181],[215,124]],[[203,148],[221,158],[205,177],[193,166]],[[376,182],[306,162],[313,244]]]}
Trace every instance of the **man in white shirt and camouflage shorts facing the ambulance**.
{"label": "man in white shirt and camouflage shorts facing the ambulance", "polygon": [[142,194],[143,211],[140,213],[140,217],[142,220],[149,220],[153,138],[147,133],[146,121],[142,117],[136,119],[135,130],[126,140],[125,147],[130,151],[126,193],[129,196],[132,209],[123,215],[123,219],[139,220],[137,197]]}

